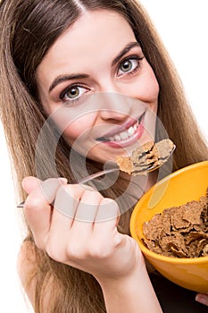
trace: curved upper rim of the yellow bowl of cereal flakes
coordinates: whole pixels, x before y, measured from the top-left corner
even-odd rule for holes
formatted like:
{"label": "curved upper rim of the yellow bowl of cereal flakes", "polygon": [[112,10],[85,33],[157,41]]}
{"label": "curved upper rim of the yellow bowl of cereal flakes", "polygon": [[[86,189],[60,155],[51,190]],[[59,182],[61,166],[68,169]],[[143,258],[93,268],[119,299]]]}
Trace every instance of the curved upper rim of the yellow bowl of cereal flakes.
{"label": "curved upper rim of the yellow bowl of cereal flakes", "polygon": [[[198,162],[195,163],[193,165],[187,165],[183,168],[180,168],[179,170],[170,173],[169,175],[167,175],[166,177],[162,178],[161,181],[156,182],[149,190],[146,191],[146,193],[137,201],[144,201],[144,199],[146,199],[149,194],[151,194],[154,190],[154,188],[156,188],[157,186],[160,186],[162,183],[167,182],[168,180],[170,180],[171,178],[178,176],[180,173],[184,173],[187,172],[189,170],[196,170],[199,168],[203,168],[203,167],[208,167],[208,160],[207,161],[202,161],[202,162]],[[144,243],[140,240],[140,238],[137,236],[136,233],[136,229],[134,227],[135,225],[135,221],[136,221],[136,216],[137,216],[137,204],[133,209],[133,212],[130,216],[130,234],[132,236],[132,238],[134,238],[136,240],[137,238],[137,243],[140,247],[140,249],[142,250],[142,252],[145,254],[146,258],[151,258],[156,260],[160,260],[163,261],[165,263],[174,263],[174,264],[201,264],[201,263],[207,263],[208,262],[208,256],[205,257],[199,257],[199,258],[172,258],[172,257],[167,257],[167,256],[162,256],[159,253],[156,253],[152,250],[149,250],[148,248],[146,248],[146,246],[144,245]]]}

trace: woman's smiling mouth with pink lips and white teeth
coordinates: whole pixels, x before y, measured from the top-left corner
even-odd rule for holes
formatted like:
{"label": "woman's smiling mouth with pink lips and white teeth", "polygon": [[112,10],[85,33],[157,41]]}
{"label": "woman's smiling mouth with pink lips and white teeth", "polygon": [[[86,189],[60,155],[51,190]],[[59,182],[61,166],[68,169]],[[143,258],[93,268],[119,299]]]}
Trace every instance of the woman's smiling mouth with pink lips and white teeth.
{"label": "woman's smiling mouth with pink lips and white teeth", "polygon": [[146,112],[142,114],[135,123],[131,123],[129,127],[125,127],[124,130],[121,130],[120,128],[121,131],[116,133],[108,133],[104,135],[104,137],[98,138],[96,140],[116,148],[129,146],[141,137],[144,131],[143,120],[145,114]]}

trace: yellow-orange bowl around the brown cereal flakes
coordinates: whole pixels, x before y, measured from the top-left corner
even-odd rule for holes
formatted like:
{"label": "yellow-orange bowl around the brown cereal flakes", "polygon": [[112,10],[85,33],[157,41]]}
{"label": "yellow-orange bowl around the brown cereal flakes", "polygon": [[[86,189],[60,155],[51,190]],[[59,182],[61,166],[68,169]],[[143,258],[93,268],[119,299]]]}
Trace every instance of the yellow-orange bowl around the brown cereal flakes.
{"label": "yellow-orange bowl around the brown cereal flakes", "polygon": [[157,182],[137,202],[130,219],[130,233],[146,259],[173,283],[195,292],[208,292],[208,257],[170,258],[148,250],[141,241],[142,225],[167,207],[178,207],[205,196],[208,161],[189,165]]}

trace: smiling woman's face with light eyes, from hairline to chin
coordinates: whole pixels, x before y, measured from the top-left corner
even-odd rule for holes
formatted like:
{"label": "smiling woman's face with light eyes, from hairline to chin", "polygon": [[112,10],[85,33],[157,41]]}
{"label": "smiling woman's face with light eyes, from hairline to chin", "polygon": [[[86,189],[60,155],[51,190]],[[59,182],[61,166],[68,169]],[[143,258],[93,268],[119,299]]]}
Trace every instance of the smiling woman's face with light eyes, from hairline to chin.
{"label": "smiling woman's face with light eyes, from hairline to chin", "polygon": [[158,82],[129,23],[84,13],[37,68],[37,89],[68,143],[106,162],[154,140]]}

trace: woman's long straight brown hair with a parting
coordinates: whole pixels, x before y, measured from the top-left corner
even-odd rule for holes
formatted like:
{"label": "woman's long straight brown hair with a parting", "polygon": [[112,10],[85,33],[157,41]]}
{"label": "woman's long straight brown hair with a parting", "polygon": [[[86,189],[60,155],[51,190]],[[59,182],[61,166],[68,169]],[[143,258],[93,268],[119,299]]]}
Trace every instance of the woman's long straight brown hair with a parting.
{"label": "woman's long straight brown hair with a parting", "polygon": [[[177,146],[173,170],[207,159],[207,146],[187,105],[177,72],[146,11],[136,0],[4,0],[0,5],[0,114],[21,199],[26,197],[21,180],[36,175],[37,137],[46,121],[37,94],[37,66],[54,41],[85,10],[121,13],[134,31],[160,86],[159,119]],[[57,140],[53,125],[48,131],[53,144]],[[48,142],[46,146],[50,147]],[[72,179],[71,169],[66,164],[70,150],[61,138],[56,153],[56,171],[69,181]],[[47,157],[50,151],[45,153]],[[96,171],[99,167],[87,160],[89,171]],[[42,179],[54,176],[54,164],[48,162],[41,168]],[[122,189],[118,183],[103,193],[115,199]],[[130,210],[121,218],[123,233],[129,233],[129,216]],[[33,241],[30,233],[27,240]],[[36,264],[29,283],[36,277],[36,312],[43,311],[41,305],[46,290],[50,292],[48,312],[105,312],[103,294],[94,277],[59,264],[37,250],[35,245],[33,247],[29,253],[34,253]]]}

